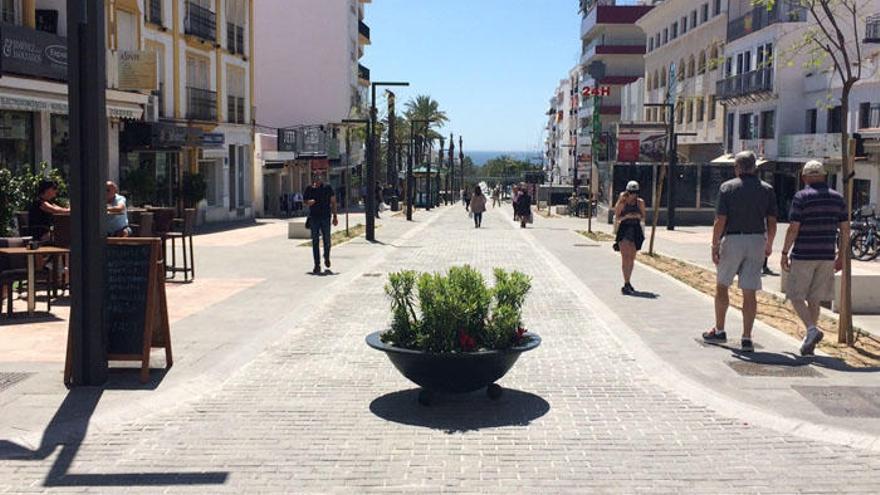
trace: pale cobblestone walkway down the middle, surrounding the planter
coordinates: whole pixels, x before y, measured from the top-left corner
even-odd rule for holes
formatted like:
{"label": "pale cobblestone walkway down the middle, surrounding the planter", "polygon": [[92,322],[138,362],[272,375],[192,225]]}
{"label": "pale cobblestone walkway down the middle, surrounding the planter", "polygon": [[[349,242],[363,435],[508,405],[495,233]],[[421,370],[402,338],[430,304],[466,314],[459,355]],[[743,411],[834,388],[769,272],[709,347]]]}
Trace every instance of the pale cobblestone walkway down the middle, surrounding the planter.
{"label": "pale cobblestone walkway down the middle, surrounding the planter", "polygon": [[[678,396],[536,253],[531,232],[495,211],[484,226],[443,210],[217,390],[0,461],[0,492],[878,492],[877,453]],[[364,344],[388,320],[374,275],[458,263],[534,277],[526,321],[544,341],[501,381],[499,402],[475,393],[422,408]],[[98,398],[80,394],[78,406]]]}

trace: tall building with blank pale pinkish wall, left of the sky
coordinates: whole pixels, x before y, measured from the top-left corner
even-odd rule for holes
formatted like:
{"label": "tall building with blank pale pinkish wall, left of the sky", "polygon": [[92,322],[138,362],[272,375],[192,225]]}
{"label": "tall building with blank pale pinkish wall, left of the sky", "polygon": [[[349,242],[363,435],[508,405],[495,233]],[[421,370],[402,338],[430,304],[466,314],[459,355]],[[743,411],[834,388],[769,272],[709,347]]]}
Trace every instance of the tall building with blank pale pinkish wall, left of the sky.
{"label": "tall building with blank pale pinkish wall, left of the sky", "polygon": [[[310,167],[326,162],[294,161],[289,151],[273,151],[275,130],[324,126],[329,140],[339,143],[330,156],[331,182],[338,186],[346,168],[363,160],[363,144],[352,139],[344,148],[343,119],[366,118],[370,71],[359,63],[370,29],[364,23],[369,0],[261,0],[256,12],[258,125],[269,136],[258,160],[266,213],[274,212],[282,194],[301,192]],[[362,132],[362,130],[360,130]],[[277,146],[277,143],[276,143]]]}

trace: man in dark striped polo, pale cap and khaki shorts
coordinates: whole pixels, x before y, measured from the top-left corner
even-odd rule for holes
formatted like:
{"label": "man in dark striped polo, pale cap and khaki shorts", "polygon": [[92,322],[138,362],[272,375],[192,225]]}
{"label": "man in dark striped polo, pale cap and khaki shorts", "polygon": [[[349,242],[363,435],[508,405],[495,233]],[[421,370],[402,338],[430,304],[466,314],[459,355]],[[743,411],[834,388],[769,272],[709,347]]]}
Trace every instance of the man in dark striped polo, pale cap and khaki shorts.
{"label": "man in dark striped polo, pale cap and khaki shorts", "polygon": [[842,240],[849,235],[846,203],[828,187],[827,178],[822,163],[804,165],[805,187],[792,200],[782,246],[782,269],[788,272],[785,294],[806,328],[802,356],[813,355],[825,336],[817,326],[819,310],[822,301],[834,298],[834,272],[843,268]]}

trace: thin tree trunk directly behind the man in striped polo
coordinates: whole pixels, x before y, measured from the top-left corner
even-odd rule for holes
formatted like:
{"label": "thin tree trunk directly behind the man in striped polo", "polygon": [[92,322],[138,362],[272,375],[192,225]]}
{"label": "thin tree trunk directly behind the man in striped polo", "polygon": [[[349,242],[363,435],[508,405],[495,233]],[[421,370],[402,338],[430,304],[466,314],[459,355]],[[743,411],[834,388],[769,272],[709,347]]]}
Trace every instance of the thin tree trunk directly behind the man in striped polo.
{"label": "thin tree trunk directly behind the man in striped polo", "polygon": [[[841,166],[843,176],[843,198],[846,203],[847,218],[852,218],[852,154],[849,142],[849,93],[851,85],[845,83],[840,98],[840,141],[841,141]],[[854,150],[853,150],[854,151]],[[840,277],[840,308],[837,328],[837,342],[840,344],[853,345],[852,330],[852,256],[850,251],[850,239],[843,239],[842,250],[843,272]]]}

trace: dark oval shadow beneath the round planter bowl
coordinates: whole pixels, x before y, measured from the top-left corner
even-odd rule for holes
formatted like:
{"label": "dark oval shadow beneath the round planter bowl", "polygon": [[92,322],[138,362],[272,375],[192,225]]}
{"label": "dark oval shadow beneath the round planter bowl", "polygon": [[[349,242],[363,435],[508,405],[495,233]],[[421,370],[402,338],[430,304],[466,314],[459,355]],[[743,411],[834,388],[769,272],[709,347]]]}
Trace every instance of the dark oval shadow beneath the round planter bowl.
{"label": "dark oval shadow beneath the round planter bowl", "polygon": [[421,426],[446,433],[502,426],[528,426],[550,411],[550,404],[535,394],[504,389],[497,401],[482,389],[469,394],[438,395],[430,406],[418,402],[420,389],[383,395],[370,404],[376,416],[395,423]]}

